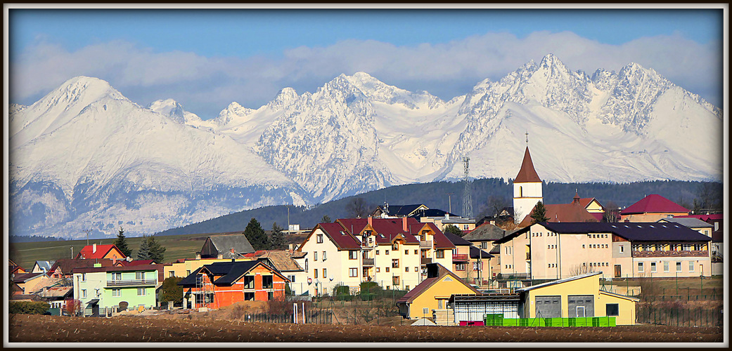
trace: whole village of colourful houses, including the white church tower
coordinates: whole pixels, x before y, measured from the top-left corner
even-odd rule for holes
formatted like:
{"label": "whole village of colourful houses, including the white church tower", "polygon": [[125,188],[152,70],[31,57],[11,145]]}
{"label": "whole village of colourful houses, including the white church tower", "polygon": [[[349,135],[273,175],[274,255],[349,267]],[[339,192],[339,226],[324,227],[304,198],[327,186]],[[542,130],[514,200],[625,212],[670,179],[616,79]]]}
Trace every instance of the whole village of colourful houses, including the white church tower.
{"label": "whole village of colourful houses, including the white church tower", "polygon": [[[641,287],[612,291],[606,283],[722,274],[722,214],[690,214],[660,195],[622,211],[578,192],[567,203],[545,204],[528,146],[512,197],[512,207],[482,219],[385,203],[365,217],[319,223],[287,250],[256,250],[243,233],[220,233],[208,235],[195,257],[175,262],[133,260],[97,244],[27,271],[11,260],[11,300],[45,301],[54,314],[111,317],[378,288],[400,292],[395,308],[411,322],[607,317],[633,325]],[[171,285],[181,301],[168,303]]]}

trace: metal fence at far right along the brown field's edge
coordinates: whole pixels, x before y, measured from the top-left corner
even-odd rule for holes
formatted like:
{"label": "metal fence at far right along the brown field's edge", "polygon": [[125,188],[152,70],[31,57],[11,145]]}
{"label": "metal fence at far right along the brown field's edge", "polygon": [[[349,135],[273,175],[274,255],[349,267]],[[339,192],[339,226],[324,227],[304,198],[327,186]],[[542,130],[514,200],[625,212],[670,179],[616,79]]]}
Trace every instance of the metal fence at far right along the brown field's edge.
{"label": "metal fence at far right along the brown field's edge", "polygon": [[669,325],[676,327],[721,327],[722,307],[673,308],[638,306],[636,322],[643,324]]}

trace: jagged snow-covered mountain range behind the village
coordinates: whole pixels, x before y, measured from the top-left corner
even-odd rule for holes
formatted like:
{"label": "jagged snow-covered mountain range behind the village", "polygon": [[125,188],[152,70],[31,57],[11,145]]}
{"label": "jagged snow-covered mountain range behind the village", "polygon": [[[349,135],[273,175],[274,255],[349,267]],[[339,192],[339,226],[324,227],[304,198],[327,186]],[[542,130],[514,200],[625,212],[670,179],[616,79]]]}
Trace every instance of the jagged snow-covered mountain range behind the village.
{"label": "jagged snow-covered mountain range behind the village", "polygon": [[[443,101],[363,72],[314,93],[283,88],[203,120],[77,77],[10,106],[14,235],[154,233],[261,205],[385,186],[513,178],[528,132],[545,181],[720,180],[722,111],[658,75],[572,72],[555,56]],[[509,195],[506,195],[509,196]]]}

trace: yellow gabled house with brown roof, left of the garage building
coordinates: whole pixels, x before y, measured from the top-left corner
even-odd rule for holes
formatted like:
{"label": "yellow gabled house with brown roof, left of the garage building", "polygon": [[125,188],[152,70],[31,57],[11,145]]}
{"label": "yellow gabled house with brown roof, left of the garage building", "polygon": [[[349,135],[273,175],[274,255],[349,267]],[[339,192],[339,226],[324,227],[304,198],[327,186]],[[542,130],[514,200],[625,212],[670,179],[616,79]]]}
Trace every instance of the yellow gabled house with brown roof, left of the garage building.
{"label": "yellow gabled house with brown roof, left of the garage building", "polygon": [[447,308],[447,301],[453,294],[478,295],[479,292],[443,265],[430,263],[427,279],[397,300],[397,307],[408,319],[431,317],[433,310]]}

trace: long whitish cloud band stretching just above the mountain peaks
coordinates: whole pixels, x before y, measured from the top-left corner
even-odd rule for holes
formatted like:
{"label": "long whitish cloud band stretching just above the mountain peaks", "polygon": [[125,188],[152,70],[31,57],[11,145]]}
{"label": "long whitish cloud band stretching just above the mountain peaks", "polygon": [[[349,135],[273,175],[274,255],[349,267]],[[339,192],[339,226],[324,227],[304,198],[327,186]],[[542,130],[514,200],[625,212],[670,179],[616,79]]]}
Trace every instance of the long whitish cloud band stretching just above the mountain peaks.
{"label": "long whitish cloud band stretching just above the mountain peaks", "polygon": [[539,31],[524,38],[489,33],[415,46],[350,39],[328,47],[286,50],[277,59],[157,53],[121,40],[70,52],[41,41],[10,63],[11,100],[27,102],[69,78],[89,75],[108,80],[141,105],[172,97],[201,117],[212,118],[231,101],[258,107],[285,86],[302,94],[340,73],[359,71],[400,88],[427,90],[449,99],[466,94],[480,80],[500,79],[547,53],[554,53],[569,69],[588,74],[636,62],[715,105],[721,103],[720,44],[702,45],[673,34],[608,45],[568,31]]}

